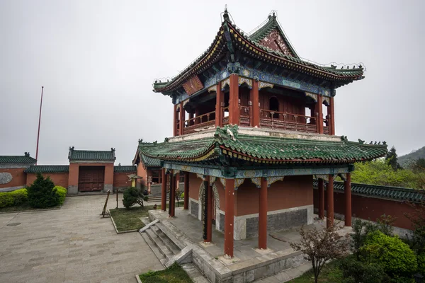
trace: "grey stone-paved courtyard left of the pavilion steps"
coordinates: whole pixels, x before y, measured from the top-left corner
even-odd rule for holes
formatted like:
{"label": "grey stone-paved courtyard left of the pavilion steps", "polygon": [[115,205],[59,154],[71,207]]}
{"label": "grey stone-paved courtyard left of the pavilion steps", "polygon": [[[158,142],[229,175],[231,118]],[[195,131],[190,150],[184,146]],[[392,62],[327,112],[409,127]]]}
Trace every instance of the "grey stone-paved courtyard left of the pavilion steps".
{"label": "grey stone-paved courtyard left of the pavilion steps", "polygon": [[136,282],[136,274],[161,269],[139,233],[117,234],[111,219],[100,218],[105,198],[67,197],[60,210],[0,214],[0,282]]}

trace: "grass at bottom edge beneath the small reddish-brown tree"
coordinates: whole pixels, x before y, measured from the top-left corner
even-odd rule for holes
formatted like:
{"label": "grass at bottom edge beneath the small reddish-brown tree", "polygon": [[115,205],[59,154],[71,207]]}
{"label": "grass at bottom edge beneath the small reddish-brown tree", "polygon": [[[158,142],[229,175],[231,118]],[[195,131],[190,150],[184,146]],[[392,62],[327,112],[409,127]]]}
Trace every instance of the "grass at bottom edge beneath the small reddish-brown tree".
{"label": "grass at bottom edge beneath the small reddish-brown tree", "polygon": [[[339,260],[334,260],[332,262],[324,265],[322,272],[319,274],[318,282],[327,282],[327,283],[341,283],[344,279],[342,277],[342,272],[339,269]],[[309,270],[305,272],[298,278],[295,278],[290,283],[312,283],[314,282],[314,272]]]}

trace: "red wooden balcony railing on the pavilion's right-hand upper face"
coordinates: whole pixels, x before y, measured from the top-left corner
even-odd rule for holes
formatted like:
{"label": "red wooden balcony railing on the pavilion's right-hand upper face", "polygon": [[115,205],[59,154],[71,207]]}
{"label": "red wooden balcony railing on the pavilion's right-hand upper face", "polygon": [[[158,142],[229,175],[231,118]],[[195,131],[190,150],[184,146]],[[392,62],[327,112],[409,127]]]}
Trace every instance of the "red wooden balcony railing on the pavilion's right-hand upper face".
{"label": "red wooden balcony railing on the pavilion's right-hand upper face", "polygon": [[317,132],[315,117],[265,109],[260,110],[260,127],[296,132]]}

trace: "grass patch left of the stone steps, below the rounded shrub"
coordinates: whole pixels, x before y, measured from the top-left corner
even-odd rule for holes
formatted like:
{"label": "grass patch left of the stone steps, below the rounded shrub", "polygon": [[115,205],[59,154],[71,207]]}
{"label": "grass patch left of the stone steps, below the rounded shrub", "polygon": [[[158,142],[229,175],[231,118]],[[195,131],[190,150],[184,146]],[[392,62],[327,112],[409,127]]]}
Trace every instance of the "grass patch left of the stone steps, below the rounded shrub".
{"label": "grass patch left of the stone steps, below the rounded shrub", "polygon": [[109,209],[109,212],[111,212],[111,217],[117,226],[118,232],[122,232],[135,229],[138,230],[144,227],[145,224],[143,224],[140,218],[146,217],[150,209],[154,209],[154,207],[130,207],[130,209],[118,208]]}

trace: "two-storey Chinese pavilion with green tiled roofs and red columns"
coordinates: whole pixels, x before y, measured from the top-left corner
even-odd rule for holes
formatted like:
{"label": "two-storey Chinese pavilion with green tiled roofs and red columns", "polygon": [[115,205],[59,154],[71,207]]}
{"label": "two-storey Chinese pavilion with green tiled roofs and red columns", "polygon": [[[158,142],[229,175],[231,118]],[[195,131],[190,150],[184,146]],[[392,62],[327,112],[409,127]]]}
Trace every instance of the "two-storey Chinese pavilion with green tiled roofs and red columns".
{"label": "two-storey Chinese pavilion with green tiled roofs and red columns", "polygon": [[[214,40],[195,62],[171,80],[155,81],[154,92],[172,98],[174,137],[142,143],[138,153],[162,166],[166,183],[184,174],[184,209],[203,220],[203,239],[225,235],[224,254],[234,240],[312,224],[313,180],[319,187],[319,217],[334,223],[334,178],[345,180],[345,224],[351,226],[353,163],[383,156],[386,144],[364,144],[335,136],[336,88],[363,79],[363,67],[336,69],[300,59],[268,16],[254,33],[230,21],[227,10]],[[168,179],[168,180],[167,180]],[[175,190],[170,190],[174,200]],[[169,215],[175,204],[170,202]]]}

